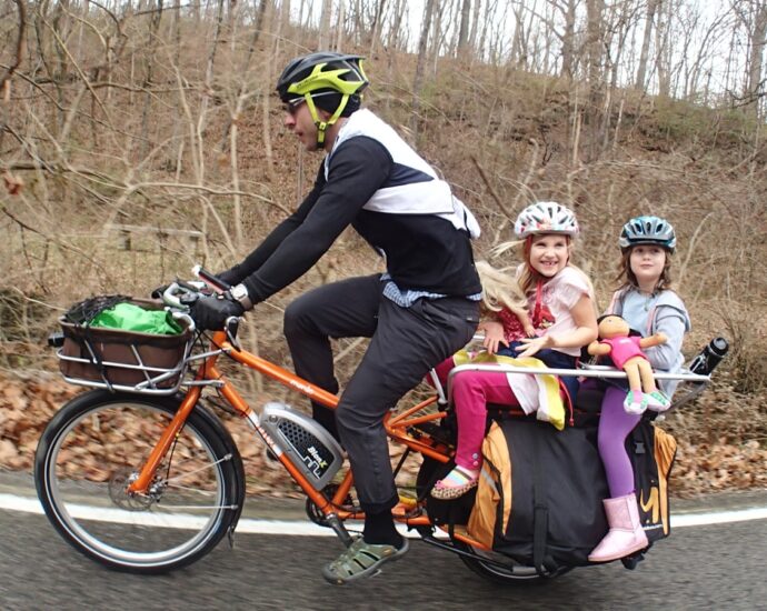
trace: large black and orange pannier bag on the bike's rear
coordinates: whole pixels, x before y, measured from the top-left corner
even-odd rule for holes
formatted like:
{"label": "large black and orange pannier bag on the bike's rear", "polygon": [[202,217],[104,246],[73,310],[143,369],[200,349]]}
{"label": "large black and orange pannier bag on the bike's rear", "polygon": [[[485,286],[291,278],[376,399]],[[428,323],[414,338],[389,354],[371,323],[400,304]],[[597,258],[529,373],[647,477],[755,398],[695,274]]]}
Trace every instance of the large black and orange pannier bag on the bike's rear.
{"label": "large black and orange pannier bag on the bike's rear", "polygon": [[[668,534],[666,481],[675,449],[674,438],[646,420],[627,439],[650,541]],[[468,533],[541,574],[589,564],[608,529],[597,428],[556,431],[545,422],[508,419],[490,429],[482,454]]]}

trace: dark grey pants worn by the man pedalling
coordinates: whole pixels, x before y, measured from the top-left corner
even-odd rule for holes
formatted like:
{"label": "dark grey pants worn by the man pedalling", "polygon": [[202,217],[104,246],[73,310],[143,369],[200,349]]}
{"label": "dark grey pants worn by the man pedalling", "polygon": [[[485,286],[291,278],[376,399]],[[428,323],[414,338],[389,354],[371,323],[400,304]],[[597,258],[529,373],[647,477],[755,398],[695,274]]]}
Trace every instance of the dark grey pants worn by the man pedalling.
{"label": "dark grey pants worn by the man pedalling", "polygon": [[[335,412],[360,504],[371,513],[398,499],[384,415],[429,369],[466,345],[479,321],[479,304],[465,298],[401,308],[382,289],[378,274],[351,278],[299,297],[285,312],[296,373],[329,392],[338,392],[329,338],[372,338]],[[333,429],[332,412],[319,404],[313,412]]]}

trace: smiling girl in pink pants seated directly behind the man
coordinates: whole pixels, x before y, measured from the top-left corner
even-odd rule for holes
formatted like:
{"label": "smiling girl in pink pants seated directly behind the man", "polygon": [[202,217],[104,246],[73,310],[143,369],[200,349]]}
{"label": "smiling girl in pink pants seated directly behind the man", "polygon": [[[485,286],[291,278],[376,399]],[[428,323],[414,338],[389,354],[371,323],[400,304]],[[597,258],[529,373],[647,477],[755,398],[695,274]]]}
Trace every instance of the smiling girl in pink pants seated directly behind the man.
{"label": "smiling girl in pink pants seated directly behind the man", "polygon": [[[556,202],[538,202],[519,214],[515,233],[524,240],[525,262],[517,278],[536,334],[507,342],[502,323],[486,321],[480,328],[485,331],[488,352],[508,343],[515,357],[535,355],[548,367],[570,369],[575,367],[580,348],[597,338],[591,284],[586,274],[570,263],[572,239],[578,231],[572,211]],[[499,354],[505,352],[498,351]],[[575,397],[576,379],[564,378],[562,382]],[[487,403],[521,407],[526,413],[541,407],[532,375],[504,371],[456,373],[452,399],[458,418],[456,468],[432,488],[431,495],[438,499],[455,499],[477,485]]]}

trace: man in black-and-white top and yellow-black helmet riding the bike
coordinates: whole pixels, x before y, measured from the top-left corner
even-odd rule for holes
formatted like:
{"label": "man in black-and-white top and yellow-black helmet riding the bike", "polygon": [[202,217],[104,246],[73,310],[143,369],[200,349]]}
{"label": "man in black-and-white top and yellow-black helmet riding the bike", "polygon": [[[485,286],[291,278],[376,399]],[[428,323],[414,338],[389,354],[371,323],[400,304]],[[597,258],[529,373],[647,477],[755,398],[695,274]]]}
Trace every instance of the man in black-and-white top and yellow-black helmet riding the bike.
{"label": "man in black-and-white top and yellow-black helmet riding the bike", "polygon": [[407,551],[395,529],[398,502],[382,418],[437,363],[464,347],[479,319],[471,213],[387,123],[361,109],[368,79],[358,56],[310,53],[282,71],[285,126],[307,150],[323,150],[312,190],[241,263],[221,278],[226,297],[193,307],[202,329],[220,329],[306,273],[352,226],[386,260],[384,274],[351,278],[296,299],[285,334],[296,373],[337,393],[329,338],[370,344],[333,414],[313,418],[349,455],[365,529],[322,573],[331,583],[375,574]]}

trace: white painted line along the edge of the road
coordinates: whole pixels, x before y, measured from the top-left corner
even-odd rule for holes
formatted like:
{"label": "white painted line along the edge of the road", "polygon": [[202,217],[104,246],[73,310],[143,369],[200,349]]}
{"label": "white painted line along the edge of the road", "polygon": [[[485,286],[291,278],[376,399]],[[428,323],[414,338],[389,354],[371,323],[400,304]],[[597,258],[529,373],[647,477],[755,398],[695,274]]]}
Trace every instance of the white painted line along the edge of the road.
{"label": "white painted line along the edge of the road", "polygon": [[[18,497],[16,494],[0,493],[0,509],[9,511],[21,511],[24,513],[42,514],[40,501],[29,497]],[[131,523],[142,525],[155,525],[163,528],[199,528],[205,523],[205,519],[186,513],[168,515],[158,513],[139,513],[124,511],[121,509],[104,509],[90,505],[71,505],[70,513],[80,520],[96,520],[103,522]],[[172,523],[167,522],[172,518]],[[767,507],[741,509],[733,511],[718,511],[710,513],[681,513],[671,515],[671,528],[704,527],[709,524],[726,524],[731,522],[744,522],[749,520],[766,520]],[[360,524],[361,525],[361,524]],[[399,524],[405,533],[405,527]],[[319,527],[306,521],[298,520],[253,520],[242,518],[237,532],[251,534],[290,534],[302,537],[335,537],[332,530]],[[409,533],[418,537],[416,533]]]}

